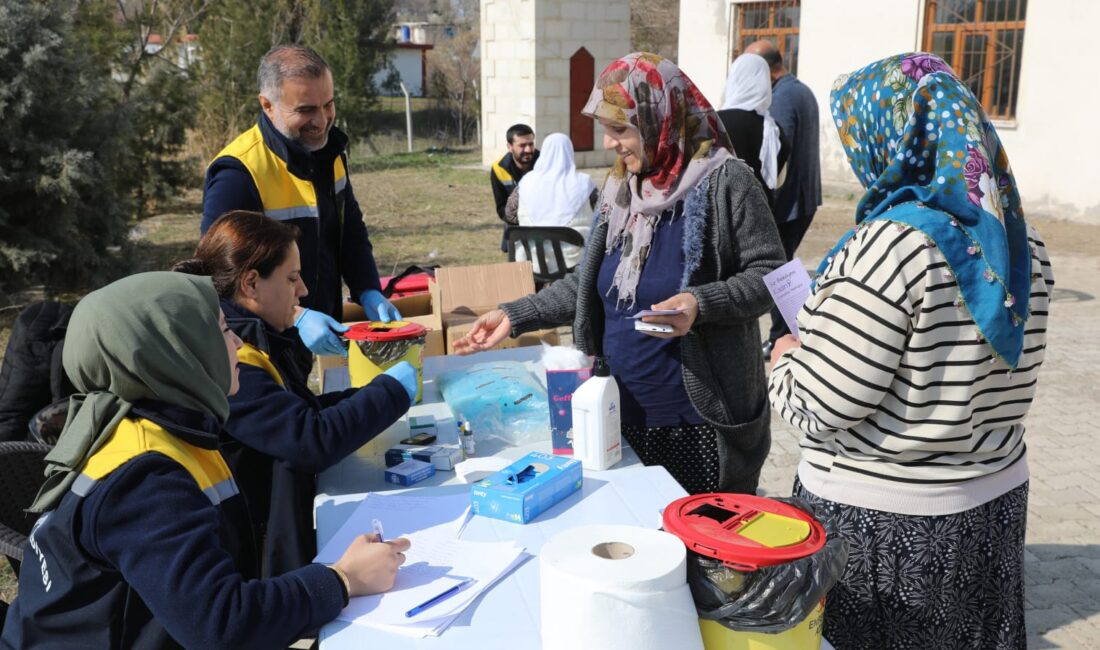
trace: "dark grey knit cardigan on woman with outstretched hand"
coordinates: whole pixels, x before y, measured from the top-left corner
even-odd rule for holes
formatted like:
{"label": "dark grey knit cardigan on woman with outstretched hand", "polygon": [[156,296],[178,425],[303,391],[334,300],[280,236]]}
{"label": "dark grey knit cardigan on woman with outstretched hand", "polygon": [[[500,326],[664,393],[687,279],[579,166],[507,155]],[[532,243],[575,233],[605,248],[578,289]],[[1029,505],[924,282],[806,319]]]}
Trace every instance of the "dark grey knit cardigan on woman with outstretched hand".
{"label": "dark grey knit cardigan on woman with outstretched hand", "polygon": [[[688,194],[684,219],[680,286],[698,300],[698,317],[682,339],[684,388],[718,429],[721,489],[751,493],[771,447],[757,321],[772,301],[761,278],[787,260],[768,199],[741,161],[729,161]],[[596,278],[606,239],[607,222],[597,214],[573,273],[501,305],[513,337],[572,320],[574,344],[601,353],[604,308]]]}

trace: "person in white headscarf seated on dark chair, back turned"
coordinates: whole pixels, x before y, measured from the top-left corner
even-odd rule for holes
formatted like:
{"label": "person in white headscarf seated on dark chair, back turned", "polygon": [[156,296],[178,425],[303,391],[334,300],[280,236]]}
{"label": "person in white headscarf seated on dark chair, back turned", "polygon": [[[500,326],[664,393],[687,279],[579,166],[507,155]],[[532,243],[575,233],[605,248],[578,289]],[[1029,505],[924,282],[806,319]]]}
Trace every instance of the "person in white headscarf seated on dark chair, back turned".
{"label": "person in white headscarf seated on dark chair, back turned", "polygon": [[[573,143],[564,133],[547,135],[540,152],[535,168],[524,175],[519,187],[508,197],[504,208],[506,220],[518,225],[568,227],[587,239],[600,196],[596,184],[591,176],[576,170]],[[582,250],[562,244],[568,267],[576,266]],[[553,266],[553,253],[548,250],[546,255],[547,264]],[[526,260],[526,251],[518,249],[516,258]],[[538,272],[538,260],[531,260],[531,264]]]}

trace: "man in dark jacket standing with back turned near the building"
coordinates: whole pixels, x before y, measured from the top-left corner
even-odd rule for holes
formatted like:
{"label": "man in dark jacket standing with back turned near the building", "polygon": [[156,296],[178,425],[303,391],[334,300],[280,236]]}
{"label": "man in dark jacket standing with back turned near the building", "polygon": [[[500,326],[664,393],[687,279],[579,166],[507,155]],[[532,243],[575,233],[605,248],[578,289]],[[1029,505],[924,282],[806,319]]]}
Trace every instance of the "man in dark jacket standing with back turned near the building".
{"label": "man in dark jacket standing with back turned near the building", "polygon": [[[746,54],[758,54],[771,68],[771,117],[791,143],[787,159],[787,180],[776,190],[772,213],[779,227],[787,260],[794,253],[806,234],[810,222],[822,205],[822,166],[817,135],[817,100],[805,84],[783,67],[783,57],[770,41],[757,41],[745,48]],[[772,307],[771,330],[763,344],[765,356],[771,352],[777,339],[790,333],[779,308]]]}

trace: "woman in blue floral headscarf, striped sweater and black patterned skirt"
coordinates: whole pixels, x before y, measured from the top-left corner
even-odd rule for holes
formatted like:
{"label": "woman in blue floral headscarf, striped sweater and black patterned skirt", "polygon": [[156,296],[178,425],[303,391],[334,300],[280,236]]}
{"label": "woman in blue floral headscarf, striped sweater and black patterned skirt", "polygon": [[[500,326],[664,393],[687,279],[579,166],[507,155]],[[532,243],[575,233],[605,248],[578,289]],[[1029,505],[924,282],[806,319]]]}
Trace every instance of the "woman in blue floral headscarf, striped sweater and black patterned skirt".
{"label": "woman in blue floral headscarf, striped sweater and black patterned skirt", "polygon": [[1024,648],[1046,250],[997,132],[939,58],[873,63],[831,103],[867,191],[770,382],[804,436],[795,494],[851,544],[825,635],[840,650]]}

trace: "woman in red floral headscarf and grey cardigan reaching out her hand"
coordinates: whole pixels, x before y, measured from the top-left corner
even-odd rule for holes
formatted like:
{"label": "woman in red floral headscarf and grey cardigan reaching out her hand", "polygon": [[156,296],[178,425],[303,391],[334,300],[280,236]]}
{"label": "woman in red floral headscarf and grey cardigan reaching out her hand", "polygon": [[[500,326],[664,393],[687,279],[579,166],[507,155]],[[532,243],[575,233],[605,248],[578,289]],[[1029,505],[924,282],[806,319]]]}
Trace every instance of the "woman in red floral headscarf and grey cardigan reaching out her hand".
{"label": "woman in red floral headscarf and grey cardigan reaching out her hand", "polygon": [[[757,319],[761,277],[783,249],[752,172],[714,109],[672,62],[636,53],[600,75],[583,110],[618,157],[578,268],[481,317],[463,353],[572,320],[573,341],[607,356],[623,434],[690,493],[754,492],[771,444]],[[642,309],[675,310],[642,320]]]}

